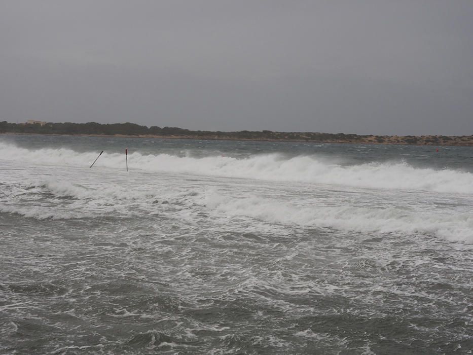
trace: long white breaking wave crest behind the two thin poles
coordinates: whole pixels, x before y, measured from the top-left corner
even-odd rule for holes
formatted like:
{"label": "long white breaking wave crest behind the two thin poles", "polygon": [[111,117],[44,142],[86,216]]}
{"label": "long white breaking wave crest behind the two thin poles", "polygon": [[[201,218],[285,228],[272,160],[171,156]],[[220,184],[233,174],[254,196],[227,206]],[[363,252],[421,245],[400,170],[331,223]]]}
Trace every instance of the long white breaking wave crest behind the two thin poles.
{"label": "long white breaking wave crest behind the two thin poles", "polygon": [[[88,167],[96,152],[78,153],[68,149],[27,150],[0,143],[2,159],[25,163]],[[96,168],[122,169],[123,154],[103,153]],[[417,190],[473,194],[473,174],[452,169],[416,168],[407,163],[363,163],[343,166],[316,156],[285,158],[279,154],[257,155],[246,159],[223,156],[192,158],[168,154],[128,155],[130,169],[245,179],[307,182],[339,186]]]}

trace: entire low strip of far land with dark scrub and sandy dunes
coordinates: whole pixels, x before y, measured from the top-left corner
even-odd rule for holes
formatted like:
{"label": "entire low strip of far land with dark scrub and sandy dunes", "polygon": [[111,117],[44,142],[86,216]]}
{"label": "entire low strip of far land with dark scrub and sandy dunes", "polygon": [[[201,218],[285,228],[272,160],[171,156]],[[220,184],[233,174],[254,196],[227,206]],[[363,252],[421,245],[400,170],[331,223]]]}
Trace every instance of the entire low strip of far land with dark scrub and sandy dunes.
{"label": "entire low strip of far land with dark scrub and sandy dunes", "polygon": [[360,144],[401,144],[430,146],[473,146],[473,135],[445,136],[397,136],[397,135],[358,135],[320,132],[274,132],[263,131],[191,131],[178,127],[141,126],[135,123],[100,124],[52,123],[28,121],[26,123],[0,122],[0,133],[17,134],[68,134],[96,136],[161,137],[185,139],[230,139],[230,140],[269,140],[306,141],[317,143],[360,143]]}

